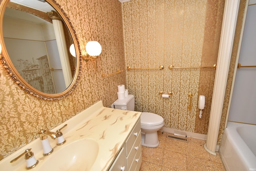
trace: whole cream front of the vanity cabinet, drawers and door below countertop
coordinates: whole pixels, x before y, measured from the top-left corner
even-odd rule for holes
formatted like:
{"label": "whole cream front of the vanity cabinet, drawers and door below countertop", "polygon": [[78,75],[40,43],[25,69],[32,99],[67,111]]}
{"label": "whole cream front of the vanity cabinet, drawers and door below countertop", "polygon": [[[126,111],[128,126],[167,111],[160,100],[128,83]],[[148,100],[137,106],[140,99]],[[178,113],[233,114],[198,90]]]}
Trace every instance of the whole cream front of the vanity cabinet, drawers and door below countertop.
{"label": "whole cream front of the vanity cabinet, drawers and door below countertop", "polygon": [[[142,163],[140,119],[126,139],[109,171],[139,171]],[[125,162],[125,168],[124,166]]]}

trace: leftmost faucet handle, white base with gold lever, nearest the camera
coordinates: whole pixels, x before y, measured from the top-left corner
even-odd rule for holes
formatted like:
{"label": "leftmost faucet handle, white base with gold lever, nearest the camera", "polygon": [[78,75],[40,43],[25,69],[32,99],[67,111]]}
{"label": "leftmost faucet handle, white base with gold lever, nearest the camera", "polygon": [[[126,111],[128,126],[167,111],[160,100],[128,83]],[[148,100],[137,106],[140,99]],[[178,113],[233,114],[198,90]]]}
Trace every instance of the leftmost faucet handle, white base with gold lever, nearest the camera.
{"label": "leftmost faucet handle, white base with gold lever, nearest the camera", "polygon": [[10,163],[13,163],[14,161],[18,160],[21,156],[25,154],[25,159],[27,161],[26,169],[32,169],[36,167],[36,165],[39,163],[38,160],[34,157],[34,153],[31,151],[31,149],[26,149],[24,153],[10,161]]}

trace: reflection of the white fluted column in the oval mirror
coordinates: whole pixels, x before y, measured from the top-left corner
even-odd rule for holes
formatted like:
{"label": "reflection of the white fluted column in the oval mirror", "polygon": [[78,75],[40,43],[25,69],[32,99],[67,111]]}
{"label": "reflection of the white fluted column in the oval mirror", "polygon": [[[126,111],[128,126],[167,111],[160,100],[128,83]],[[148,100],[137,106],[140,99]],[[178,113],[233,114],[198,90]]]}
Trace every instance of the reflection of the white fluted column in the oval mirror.
{"label": "reflection of the white fluted column in the oval mirror", "polygon": [[68,60],[68,50],[67,50],[67,46],[66,46],[66,40],[65,40],[65,35],[64,35],[63,25],[62,25],[62,19],[60,17],[56,16],[56,13],[53,11],[49,12],[49,13],[48,13],[48,15],[50,16],[49,18],[52,19],[52,24],[53,24],[54,33],[56,36],[58,51],[60,54],[60,63],[62,66],[64,80],[65,80],[65,84],[66,84],[66,88],[67,88],[70,85],[70,83],[72,82],[73,76],[71,73],[70,63]]}

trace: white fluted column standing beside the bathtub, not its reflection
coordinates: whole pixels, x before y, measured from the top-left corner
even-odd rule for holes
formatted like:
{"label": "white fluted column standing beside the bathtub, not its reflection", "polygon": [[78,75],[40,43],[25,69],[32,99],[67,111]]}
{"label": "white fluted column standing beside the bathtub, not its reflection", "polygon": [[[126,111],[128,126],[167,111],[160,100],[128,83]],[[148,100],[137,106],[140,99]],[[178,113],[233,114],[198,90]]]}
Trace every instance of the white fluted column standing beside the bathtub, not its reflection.
{"label": "white fluted column standing beside the bathtub, not its reflection", "polygon": [[209,127],[206,144],[204,144],[206,151],[212,155],[216,155],[216,144],[220,129],[220,119],[228,79],[228,70],[232,54],[239,4],[240,0],[225,1]]}

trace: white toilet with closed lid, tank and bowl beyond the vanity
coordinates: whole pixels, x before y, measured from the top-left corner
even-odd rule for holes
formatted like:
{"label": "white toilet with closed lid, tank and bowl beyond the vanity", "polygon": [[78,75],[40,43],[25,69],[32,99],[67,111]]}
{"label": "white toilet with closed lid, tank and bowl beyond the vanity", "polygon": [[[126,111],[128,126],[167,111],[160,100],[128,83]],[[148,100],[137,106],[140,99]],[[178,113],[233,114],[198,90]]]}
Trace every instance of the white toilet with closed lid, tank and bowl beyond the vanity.
{"label": "white toilet with closed lid, tank and bowl beyond the vanity", "polygon": [[[129,94],[125,99],[114,101],[116,109],[134,111],[134,95]],[[157,131],[164,126],[164,118],[150,112],[142,112],[140,116],[142,145],[157,147],[159,145]]]}

